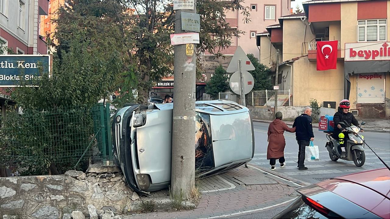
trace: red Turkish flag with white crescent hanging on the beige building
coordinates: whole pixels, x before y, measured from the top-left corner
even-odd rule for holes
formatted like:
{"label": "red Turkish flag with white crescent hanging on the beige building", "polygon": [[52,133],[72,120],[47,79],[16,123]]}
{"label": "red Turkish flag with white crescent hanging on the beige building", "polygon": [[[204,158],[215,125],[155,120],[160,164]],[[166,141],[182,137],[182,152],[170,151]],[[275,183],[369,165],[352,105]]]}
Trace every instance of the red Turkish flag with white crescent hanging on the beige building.
{"label": "red Turkish flag with white crescent hanging on the beige building", "polygon": [[317,42],[317,71],[336,69],[337,40]]}

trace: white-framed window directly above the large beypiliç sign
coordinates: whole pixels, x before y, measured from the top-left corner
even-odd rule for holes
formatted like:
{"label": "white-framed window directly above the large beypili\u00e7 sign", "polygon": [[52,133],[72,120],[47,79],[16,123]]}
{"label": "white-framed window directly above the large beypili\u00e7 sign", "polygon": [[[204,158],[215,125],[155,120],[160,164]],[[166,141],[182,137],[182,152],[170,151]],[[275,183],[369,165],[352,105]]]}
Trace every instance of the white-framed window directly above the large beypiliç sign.
{"label": "white-framed window directly above the large beypili\u00e7 sign", "polygon": [[386,41],[387,20],[358,21],[358,42]]}

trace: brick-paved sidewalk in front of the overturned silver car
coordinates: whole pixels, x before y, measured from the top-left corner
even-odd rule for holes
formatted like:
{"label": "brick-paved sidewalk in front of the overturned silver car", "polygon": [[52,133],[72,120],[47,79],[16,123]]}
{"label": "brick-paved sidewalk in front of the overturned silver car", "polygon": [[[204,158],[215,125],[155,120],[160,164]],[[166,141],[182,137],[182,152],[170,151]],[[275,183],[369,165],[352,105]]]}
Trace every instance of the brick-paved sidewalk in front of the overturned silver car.
{"label": "brick-paved sidewalk in front of the overturned silver car", "polygon": [[[277,167],[280,168],[280,167]],[[124,216],[123,219],[205,219],[234,218],[288,205],[301,187],[290,180],[270,175],[256,166],[240,166],[201,181],[202,200],[194,210],[152,212]]]}

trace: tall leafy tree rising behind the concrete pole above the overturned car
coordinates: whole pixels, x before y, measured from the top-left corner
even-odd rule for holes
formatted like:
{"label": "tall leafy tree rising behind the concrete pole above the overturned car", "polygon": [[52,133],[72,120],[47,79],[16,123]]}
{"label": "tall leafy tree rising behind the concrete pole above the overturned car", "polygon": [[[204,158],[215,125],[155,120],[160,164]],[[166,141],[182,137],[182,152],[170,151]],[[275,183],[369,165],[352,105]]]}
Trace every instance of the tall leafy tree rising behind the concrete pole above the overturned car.
{"label": "tall leafy tree rising behind the concrete pole above the overturned car", "polygon": [[[239,10],[248,22],[249,8],[242,3],[243,0],[197,1],[201,24],[197,53],[208,51],[221,55],[215,48],[230,46],[231,37],[243,33],[229,28],[224,19],[225,10]],[[152,82],[172,73],[174,54],[170,34],[174,33],[175,22],[171,4],[167,0],[67,0],[55,20],[55,37],[60,47],[67,48],[66,41],[73,35],[67,26],[74,23],[85,28],[94,41],[99,41],[99,37],[113,39],[112,47],[122,59],[122,80],[117,86],[121,97],[118,100],[127,101],[132,96],[131,91],[136,89],[137,102],[145,104]]]}

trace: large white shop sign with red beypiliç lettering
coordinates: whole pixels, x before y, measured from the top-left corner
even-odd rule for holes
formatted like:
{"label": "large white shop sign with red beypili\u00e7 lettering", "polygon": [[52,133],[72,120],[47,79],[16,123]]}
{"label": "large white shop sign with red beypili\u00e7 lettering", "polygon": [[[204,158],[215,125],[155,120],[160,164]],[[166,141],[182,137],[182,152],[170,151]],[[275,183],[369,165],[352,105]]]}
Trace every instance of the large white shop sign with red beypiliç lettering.
{"label": "large white shop sign with red beypili\u00e7 lettering", "polygon": [[390,60],[390,42],[357,42],[345,44],[344,61]]}

